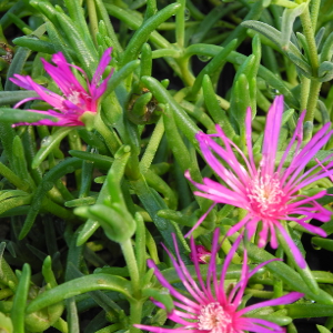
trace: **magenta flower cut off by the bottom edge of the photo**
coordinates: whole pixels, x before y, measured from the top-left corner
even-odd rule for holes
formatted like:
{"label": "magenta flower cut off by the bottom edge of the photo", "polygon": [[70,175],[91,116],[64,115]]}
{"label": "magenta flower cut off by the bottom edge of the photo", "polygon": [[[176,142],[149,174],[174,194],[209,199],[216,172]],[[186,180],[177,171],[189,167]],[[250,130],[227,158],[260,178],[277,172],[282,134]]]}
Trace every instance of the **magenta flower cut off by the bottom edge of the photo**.
{"label": "magenta flower cut off by the bottom edge of the photo", "polygon": [[[174,309],[168,314],[169,320],[179,324],[174,329],[154,327],[149,325],[134,325],[138,329],[155,333],[242,333],[244,331],[258,333],[285,332],[280,325],[270,321],[250,315],[250,311],[263,306],[274,306],[295,302],[303,296],[302,293],[291,292],[284,296],[256,303],[244,309],[240,309],[244,290],[249,279],[269,262],[259,264],[252,271],[246,263],[248,256],[244,251],[244,261],[240,274],[240,280],[235,284],[225,286],[225,278],[231,259],[240,244],[241,238],[234,242],[221,268],[221,275],[216,274],[216,255],[220,250],[219,229],[215,230],[212,242],[212,256],[209,263],[206,279],[200,272],[198,256],[193,256],[198,282],[191,276],[185,264],[181,260],[179,248],[174,239],[176,259],[167,250],[172,264],[182,281],[186,295],[171,285],[159,271],[152,260],[148,261],[149,268],[154,269],[154,274],[159,282],[170,291],[174,299]],[[191,239],[191,250],[195,254],[196,249],[193,238]],[[270,261],[271,262],[271,261]],[[153,301],[158,306],[164,307],[160,302]]]}

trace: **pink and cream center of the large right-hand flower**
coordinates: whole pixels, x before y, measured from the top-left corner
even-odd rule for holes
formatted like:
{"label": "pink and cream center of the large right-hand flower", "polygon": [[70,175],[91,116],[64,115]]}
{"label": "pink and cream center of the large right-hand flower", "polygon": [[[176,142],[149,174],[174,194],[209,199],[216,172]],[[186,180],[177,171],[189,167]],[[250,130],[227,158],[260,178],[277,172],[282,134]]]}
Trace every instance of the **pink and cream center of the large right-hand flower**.
{"label": "pink and cream center of the large right-hand flower", "polygon": [[273,218],[285,208],[285,194],[276,175],[259,175],[248,188],[248,198],[253,212],[261,218]]}

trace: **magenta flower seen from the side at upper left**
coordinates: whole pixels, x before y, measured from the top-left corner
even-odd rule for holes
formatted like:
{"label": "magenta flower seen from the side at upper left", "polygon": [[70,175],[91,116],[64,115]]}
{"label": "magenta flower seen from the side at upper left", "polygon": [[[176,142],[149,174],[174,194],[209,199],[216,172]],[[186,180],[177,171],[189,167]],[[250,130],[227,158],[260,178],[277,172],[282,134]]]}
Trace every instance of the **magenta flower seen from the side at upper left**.
{"label": "magenta flower seen from the side at upper left", "polygon": [[47,73],[54,80],[57,85],[62,91],[63,95],[59,95],[56,92],[36,83],[31,77],[23,77],[19,74],[14,74],[14,78],[10,80],[17,85],[28,89],[34,90],[39,97],[37,98],[28,98],[17,103],[14,108],[20,107],[21,104],[31,101],[31,100],[43,100],[50,105],[52,105],[57,111],[48,110],[27,110],[31,112],[38,112],[42,114],[48,114],[52,117],[57,117],[58,121],[54,122],[49,119],[43,119],[33,123],[19,122],[14,125],[22,124],[34,124],[34,125],[53,125],[53,127],[77,127],[84,125],[81,118],[84,112],[97,113],[98,109],[98,100],[104,93],[107,89],[108,81],[110,80],[113,70],[110,72],[108,78],[102,80],[102,74],[107,68],[107,65],[111,61],[111,51],[112,49],[107,49],[102,59],[97,68],[95,73],[91,82],[87,80],[87,89],[82,87],[82,84],[78,81],[74,74],[71,71],[71,67],[75,68],[80,71],[84,78],[87,78],[85,72],[73,64],[67,62],[64,56],[59,52],[52,56],[52,61],[56,65],[47,62],[44,59],[43,62],[44,69]]}

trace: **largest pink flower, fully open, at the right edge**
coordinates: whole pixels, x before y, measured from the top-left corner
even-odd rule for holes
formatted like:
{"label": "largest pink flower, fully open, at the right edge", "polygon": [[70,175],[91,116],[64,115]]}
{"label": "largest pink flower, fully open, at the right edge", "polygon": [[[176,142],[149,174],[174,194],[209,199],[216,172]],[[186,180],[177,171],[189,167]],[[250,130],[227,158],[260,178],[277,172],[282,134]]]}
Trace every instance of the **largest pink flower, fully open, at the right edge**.
{"label": "largest pink flower, fully open, at the right edge", "polygon": [[[303,269],[306,263],[287,231],[282,226],[281,221],[296,222],[312,233],[326,236],[322,229],[307,223],[311,219],[322,222],[330,220],[332,213],[315,201],[324,196],[326,191],[320,191],[312,196],[300,194],[300,191],[311,183],[333,174],[333,161],[329,162],[325,168],[315,165],[304,171],[310,160],[314,159],[319,150],[326,144],[333,131],[329,131],[330,123],[324,124],[301,148],[304,111],[282,159],[278,163],[276,152],[282,113],[283,97],[280,95],[275,98],[268,113],[262,158],[258,167],[252,150],[251,109],[249,108],[245,120],[249,157],[245,157],[241,149],[226,138],[223,130],[216,125],[216,134],[198,133],[196,140],[200,143],[204,159],[221,179],[221,183],[204,179],[203,184],[199,184],[191,180],[189,172],[185,175],[201,191],[194,193],[213,200],[213,205],[225,203],[248,211],[245,218],[228,231],[226,236],[245,226],[248,236],[251,239],[261,221],[259,246],[265,246],[270,234],[271,246],[276,249],[276,230],[279,230],[294,253],[296,263]],[[223,147],[214,138],[219,139]],[[236,154],[243,160],[243,163],[239,162]],[[289,167],[284,168],[287,157],[291,158],[291,162]],[[330,160],[331,157],[324,159],[322,163]],[[198,221],[193,229],[203,221],[205,215]]]}

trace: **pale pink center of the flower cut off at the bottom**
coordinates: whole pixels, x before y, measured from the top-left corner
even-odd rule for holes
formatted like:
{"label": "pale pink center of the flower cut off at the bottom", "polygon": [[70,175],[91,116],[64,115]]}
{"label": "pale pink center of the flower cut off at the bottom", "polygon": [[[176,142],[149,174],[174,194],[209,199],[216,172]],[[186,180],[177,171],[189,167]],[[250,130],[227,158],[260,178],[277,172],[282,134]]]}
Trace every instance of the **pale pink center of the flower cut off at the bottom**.
{"label": "pale pink center of the flower cut off at the bottom", "polygon": [[231,323],[230,314],[218,302],[202,306],[198,316],[198,329],[210,333],[232,333]]}

